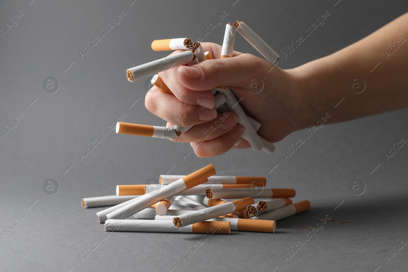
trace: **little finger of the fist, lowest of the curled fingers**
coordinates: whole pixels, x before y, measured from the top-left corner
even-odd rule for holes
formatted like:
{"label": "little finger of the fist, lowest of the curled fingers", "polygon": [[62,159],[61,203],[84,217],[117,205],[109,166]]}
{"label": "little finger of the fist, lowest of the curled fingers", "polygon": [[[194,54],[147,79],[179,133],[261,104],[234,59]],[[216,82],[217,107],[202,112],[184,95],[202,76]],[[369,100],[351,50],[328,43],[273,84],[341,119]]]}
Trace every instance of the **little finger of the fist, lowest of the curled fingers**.
{"label": "little finger of the fist, lowest of the curled fingers", "polygon": [[198,157],[217,156],[230,150],[235,142],[237,142],[238,138],[241,137],[243,132],[244,128],[242,128],[242,126],[235,125],[233,129],[224,133],[220,137],[208,141],[198,140],[197,142],[191,142],[190,144],[193,147],[194,153]]}

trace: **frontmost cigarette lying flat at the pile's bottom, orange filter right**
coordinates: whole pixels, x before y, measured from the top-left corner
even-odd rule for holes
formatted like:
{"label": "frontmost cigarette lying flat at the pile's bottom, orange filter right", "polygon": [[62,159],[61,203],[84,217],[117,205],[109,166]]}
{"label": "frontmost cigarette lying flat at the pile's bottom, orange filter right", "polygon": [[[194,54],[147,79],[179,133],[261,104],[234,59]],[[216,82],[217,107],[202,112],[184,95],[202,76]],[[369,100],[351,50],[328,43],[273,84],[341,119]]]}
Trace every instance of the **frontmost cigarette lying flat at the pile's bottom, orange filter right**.
{"label": "frontmost cigarette lying flat at the pile's bottom, orange filter right", "polygon": [[230,234],[230,222],[205,221],[183,228],[175,228],[170,220],[115,220],[105,222],[106,231],[216,233]]}

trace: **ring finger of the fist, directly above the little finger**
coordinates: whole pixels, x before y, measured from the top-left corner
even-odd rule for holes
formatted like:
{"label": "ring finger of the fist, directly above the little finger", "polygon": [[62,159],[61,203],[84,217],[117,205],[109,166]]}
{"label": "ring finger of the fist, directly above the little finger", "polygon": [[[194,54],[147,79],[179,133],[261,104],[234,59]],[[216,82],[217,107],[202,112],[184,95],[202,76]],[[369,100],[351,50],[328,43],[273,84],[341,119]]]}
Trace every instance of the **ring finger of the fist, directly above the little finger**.
{"label": "ring finger of the fist, directly above the little finger", "polygon": [[[177,139],[172,142],[193,142],[200,139],[201,141],[208,141],[217,138],[224,133],[230,131],[237,124],[237,117],[233,113],[220,113],[217,118],[198,124],[182,133]],[[167,124],[166,126],[172,126]]]}

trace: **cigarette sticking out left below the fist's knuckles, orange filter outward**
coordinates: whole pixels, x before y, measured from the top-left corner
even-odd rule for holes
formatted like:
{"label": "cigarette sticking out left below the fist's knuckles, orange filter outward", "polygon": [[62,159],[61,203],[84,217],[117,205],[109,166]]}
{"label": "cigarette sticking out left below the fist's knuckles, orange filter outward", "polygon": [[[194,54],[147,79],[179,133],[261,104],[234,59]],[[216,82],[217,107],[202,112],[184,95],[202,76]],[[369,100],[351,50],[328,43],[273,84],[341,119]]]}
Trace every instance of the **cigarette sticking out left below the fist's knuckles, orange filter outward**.
{"label": "cigarette sticking out left below the fist's knuckles, orange filter outward", "polygon": [[116,133],[162,139],[177,139],[177,131],[174,130],[173,127],[167,126],[148,126],[118,122],[116,123]]}

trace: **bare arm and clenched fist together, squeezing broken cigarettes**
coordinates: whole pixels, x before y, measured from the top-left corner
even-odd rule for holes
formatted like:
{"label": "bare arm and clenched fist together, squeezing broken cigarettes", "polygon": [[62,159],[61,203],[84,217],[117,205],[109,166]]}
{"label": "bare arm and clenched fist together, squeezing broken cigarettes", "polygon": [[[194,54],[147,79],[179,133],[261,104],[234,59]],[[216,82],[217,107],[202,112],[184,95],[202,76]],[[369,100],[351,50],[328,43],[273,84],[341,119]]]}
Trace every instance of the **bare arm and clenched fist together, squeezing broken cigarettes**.
{"label": "bare arm and clenched fist together, squeezing broken cigarettes", "polygon": [[[234,146],[243,128],[233,113],[228,112],[222,123],[223,113],[216,118],[214,97],[208,90],[217,86],[230,86],[237,100],[242,99],[239,104],[246,114],[261,122],[258,134],[272,143],[296,130],[317,126],[326,113],[330,114],[325,122],[328,124],[405,108],[408,106],[406,31],[408,13],[344,49],[287,70],[236,51],[233,57],[219,59],[221,46],[203,42],[204,51],[209,51],[214,60],[159,73],[173,95],[153,88],[146,95],[145,105],[151,113],[166,120],[167,126],[195,125],[173,142],[190,142],[198,157],[250,147],[244,139]],[[175,53],[180,51],[172,54]],[[260,93],[251,89],[254,79],[264,82]],[[360,89],[353,89],[356,79]],[[359,93],[364,87],[361,79],[366,82],[366,88]],[[211,129],[208,137],[203,135],[219,124],[222,126]]]}

